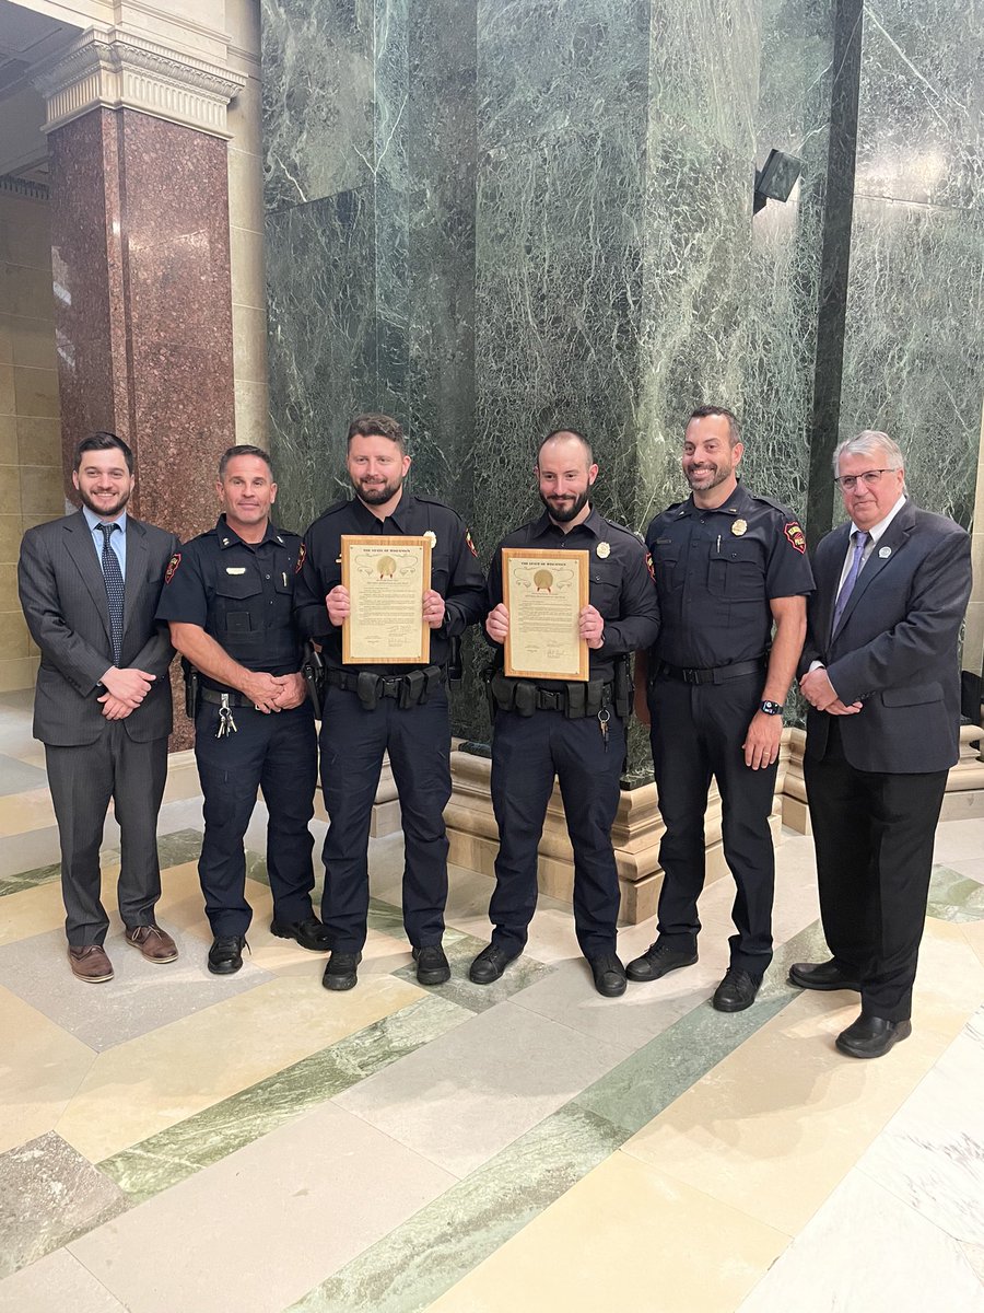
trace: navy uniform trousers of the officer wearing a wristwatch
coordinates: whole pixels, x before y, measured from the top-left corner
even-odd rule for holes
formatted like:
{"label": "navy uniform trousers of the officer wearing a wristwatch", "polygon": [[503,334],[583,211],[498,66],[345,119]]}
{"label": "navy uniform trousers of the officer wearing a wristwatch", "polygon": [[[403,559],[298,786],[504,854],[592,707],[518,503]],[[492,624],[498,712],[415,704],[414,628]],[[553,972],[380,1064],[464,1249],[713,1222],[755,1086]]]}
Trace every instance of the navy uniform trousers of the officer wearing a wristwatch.
{"label": "navy uniform trousers of the officer wearing a wristwatch", "polygon": [[695,951],[701,920],[697,899],[705,881],[705,831],[711,776],[722,798],[722,840],[737,893],[728,940],[731,964],[761,977],[771,961],[771,907],[775,852],[769,813],[778,763],[761,771],[745,765],[741,744],[762,696],[756,671],[720,684],[685,684],[657,676],[648,689],[652,763],[665,872],[659,902],[660,940]]}

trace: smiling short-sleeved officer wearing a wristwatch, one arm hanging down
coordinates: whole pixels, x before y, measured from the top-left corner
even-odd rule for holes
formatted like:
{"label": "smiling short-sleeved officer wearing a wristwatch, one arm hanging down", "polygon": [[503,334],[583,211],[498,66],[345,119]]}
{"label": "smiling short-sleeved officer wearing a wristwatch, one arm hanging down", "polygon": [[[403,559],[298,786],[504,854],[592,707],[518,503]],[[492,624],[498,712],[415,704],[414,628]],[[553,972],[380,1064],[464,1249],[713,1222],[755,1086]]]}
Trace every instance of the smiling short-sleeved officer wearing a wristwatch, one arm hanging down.
{"label": "smiling short-sleeved officer wearing a wristwatch, one arm hanging down", "polygon": [[712,999],[722,1012],[750,1007],[771,961],[769,813],[782,704],[813,591],[802,528],[785,507],[739,483],[743,452],[731,411],[693,412],[682,458],[691,496],[656,516],[646,536],[663,628],[648,658],[636,660],[636,710],[652,723],[666,832],[659,937],[628,964],[628,978],[652,981],[697,961],[703,817],[714,776],[724,856],[737,885],[731,965]]}

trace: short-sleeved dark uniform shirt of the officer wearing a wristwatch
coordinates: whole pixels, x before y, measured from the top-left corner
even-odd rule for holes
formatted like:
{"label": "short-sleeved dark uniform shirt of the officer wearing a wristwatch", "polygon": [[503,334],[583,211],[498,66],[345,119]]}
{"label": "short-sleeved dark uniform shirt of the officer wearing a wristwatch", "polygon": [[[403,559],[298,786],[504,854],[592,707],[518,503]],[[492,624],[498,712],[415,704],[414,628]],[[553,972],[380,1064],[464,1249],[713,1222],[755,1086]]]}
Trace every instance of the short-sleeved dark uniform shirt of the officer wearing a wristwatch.
{"label": "short-sleeved dark uniform shirt of the officer wearing a wristwatch", "polygon": [[806,538],[791,511],[741,484],[712,511],[666,507],[646,534],[663,628],[653,660],[702,670],[769,650],[773,597],[813,591]]}

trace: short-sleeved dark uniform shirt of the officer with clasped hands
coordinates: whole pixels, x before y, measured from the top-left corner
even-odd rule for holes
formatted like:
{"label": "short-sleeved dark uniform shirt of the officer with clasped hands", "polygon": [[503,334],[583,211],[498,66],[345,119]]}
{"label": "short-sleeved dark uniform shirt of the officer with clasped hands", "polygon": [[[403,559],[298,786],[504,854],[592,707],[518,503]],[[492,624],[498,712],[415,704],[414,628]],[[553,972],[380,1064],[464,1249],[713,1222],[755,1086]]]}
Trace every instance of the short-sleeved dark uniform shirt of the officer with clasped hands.
{"label": "short-sleeved dark uniform shirt of the officer with clasped hands", "polygon": [[[157,620],[198,625],[247,670],[293,675],[300,667],[293,612],[299,557],[297,533],[268,524],[260,542],[244,542],[220,515],[214,529],[171,558]],[[210,688],[234,692],[202,679]]]}

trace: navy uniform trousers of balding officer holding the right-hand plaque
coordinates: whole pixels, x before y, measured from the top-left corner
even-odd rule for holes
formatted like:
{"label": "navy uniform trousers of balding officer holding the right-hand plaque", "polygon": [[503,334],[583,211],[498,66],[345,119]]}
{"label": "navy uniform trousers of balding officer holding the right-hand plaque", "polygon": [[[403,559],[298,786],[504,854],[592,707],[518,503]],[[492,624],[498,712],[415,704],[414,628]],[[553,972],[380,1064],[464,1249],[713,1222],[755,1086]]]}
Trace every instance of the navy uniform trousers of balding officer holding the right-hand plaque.
{"label": "navy uniform trousers of balding officer holding the right-hand plaque", "polygon": [[577,943],[585,957],[614,953],[619,889],[611,826],[625,755],[625,726],[614,709],[607,746],[597,716],[568,720],[563,712],[496,710],[492,806],[499,855],[488,915],[497,948],[514,955],[526,944],[537,910],[537,850],[556,776],[575,856]]}

